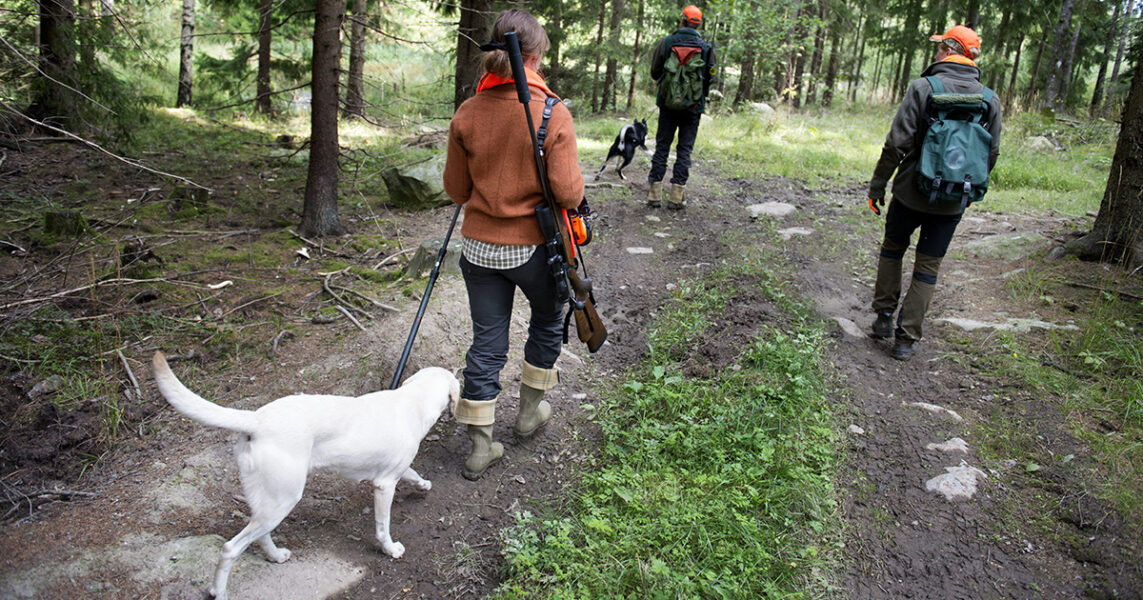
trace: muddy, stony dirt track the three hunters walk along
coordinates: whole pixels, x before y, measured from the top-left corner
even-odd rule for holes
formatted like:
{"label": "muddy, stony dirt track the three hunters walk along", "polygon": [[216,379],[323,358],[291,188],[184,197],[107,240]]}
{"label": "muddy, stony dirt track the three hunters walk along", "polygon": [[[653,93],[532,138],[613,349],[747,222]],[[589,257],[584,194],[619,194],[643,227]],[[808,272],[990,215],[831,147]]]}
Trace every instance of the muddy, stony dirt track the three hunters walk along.
{"label": "muddy, stony dirt track the three hunters walk along", "polygon": [[[638,178],[637,171],[629,177]],[[367,485],[312,475],[303,501],[275,534],[294,557],[273,565],[251,547],[232,573],[233,597],[479,598],[491,591],[503,569],[502,531],[522,511],[559,510],[575,489],[577,467],[598,443],[583,405],[591,402],[599,382],[621,376],[640,360],[647,327],[677,283],[736,259],[742,254],[737,243],[780,248],[785,257],[781,267],[833,333],[836,343],[823,360],[837,375],[838,427],[846,431],[846,466],[838,481],[845,529],[839,597],[1141,597],[1143,577],[1133,558],[1143,546],[1129,528],[1114,522],[1113,513],[1089,496],[1071,494],[1066,481],[1055,487],[1030,482],[1016,465],[982,457],[973,445],[974,422],[1005,398],[1002,409],[1013,414],[1039,411],[1044,434],[1065,450],[1069,441],[1053,424],[1057,415],[1008,389],[1002,377],[980,373],[970,357],[961,355],[964,345],[945,341],[956,335],[949,326],[929,323],[918,355],[903,363],[888,358],[885,342],[864,336],[872,286],[866,263],[873,261],[880,230],[849,218],[862,208],[861,190],[809,189],[777,178],[725,179],[698,166],[688,187],[690,207],[673,214],[645,207],[641,187],[631,179],[617,187],[610,185],[618,182],[605,183],[609,198],[598,206],[601,222],[589,258],[609,343],[591,357],[573,343],[561,355],[565,377],[551,392],[553,421],[528,441],[510,431],[526,325],[521,304],[503,374],[505,398],[497,410],[496,439],[505,445],[505,459],[480,481],[464,480],[459,465],[469,442],[463,429],[450,419],[439,423],[414,463],[432,480],[432,489],[398,487],[392,531],[406,546],[400,560],[384,555],[373,539]],[[753,218],[750,207],[765,202],[782,202],[793,211]],[[407,239],[426,239],[442,233],[448,213],[391,216]],[[1058,219],[974,215],[953,251],[994,233],[1058,235],[1061,227]],[[743,234],[728,238],[728,231]],[[1005,297],[1002,274],[1018,264],[966,263],[946,261],[933,319],[1026,313],[1018,305],[997,305]],[[299,391],[362,393],[387,385],[391,377],[415,298],[398,307],[365,331],[347,323],[314,331],[283,343],[272,359],[254,359],[224,373],[211,373],[210,363],[191,369],[174,362],[173,368],[203,395],[242,408]],[[719,333],[726,345],[734,336],[750,337],[750,323],[733,317],[728,322]],[[853,323],[860,330],[848,327]],[[469,327],[463,282],[446,274],[407,373],[427,365],[458,367]],[[980,339],[986,344],[986,335]],[[131,358],[145,361],[154,350],[138,345]],[[713,353],[710,363],[696,369],[718,369],[718,360]],[[56,502],[2,526],[0,595],[205,597],[221,544],[245,525],[232,439],[170,414],[146,386],[158,415],[157,433],[126,440],[104,457],[96,474],[72,487],[74,494],[56,495]],[[913,403],[956,411],[959,419]],[[958,437],[967,440],[967,451],[928,447]],[[982,473],[972,498],[950,501],[926,490],[927,481],[960,465]],[[1013,529],[1020,515],[1012,506],[1020,503],[1012,498],[1040,494],[1060,498],[1060,527],[1089,539],[1089,553],[1078,554],[1074,546],[1037,530]]]}

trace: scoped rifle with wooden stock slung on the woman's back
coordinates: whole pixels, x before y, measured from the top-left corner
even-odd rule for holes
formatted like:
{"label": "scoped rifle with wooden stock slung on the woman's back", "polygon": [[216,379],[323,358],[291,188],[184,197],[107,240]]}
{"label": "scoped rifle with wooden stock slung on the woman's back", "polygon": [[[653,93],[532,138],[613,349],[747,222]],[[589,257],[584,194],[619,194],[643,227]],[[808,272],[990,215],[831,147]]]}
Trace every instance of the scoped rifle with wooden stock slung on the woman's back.
{"label": "scoped rifle with wooden stock slung on the woman's back", "polygon": [[[544,157],[536,139],[536,128],[531,121],[531,91],[528,89],[528,75],[523,71],[523,56],[520,53],[520,40],[514,31],[504,34],[509,62],[512,64],[512,79],[515,80],[515,95],[523,105],[523,114],[528,118],[528,135],[531,138],[531,153],[536,161],[536,174],[544,193],[544,201],[536,206],[536,218],[539,219],[539,231],[544,237],[544,248],[547,250],[547,265],[555,280],[555,293],[561,302],[568,304],[568,315],[563,320],[563,342],[568,338],[568,321],[575,319],[576,334],[580,341],[588,344],[590,352],[596,352],[607,341],[607,329],[604,320],[596,311],[596,297],[591,289],[591,278],[583,264],[582,253],[577,253],[576,238],[566,210],[555,203],[547,170],[544,168]],[[549,105],[549,110],[551,106]],[[580,277],[580,269],[583,277]]]}

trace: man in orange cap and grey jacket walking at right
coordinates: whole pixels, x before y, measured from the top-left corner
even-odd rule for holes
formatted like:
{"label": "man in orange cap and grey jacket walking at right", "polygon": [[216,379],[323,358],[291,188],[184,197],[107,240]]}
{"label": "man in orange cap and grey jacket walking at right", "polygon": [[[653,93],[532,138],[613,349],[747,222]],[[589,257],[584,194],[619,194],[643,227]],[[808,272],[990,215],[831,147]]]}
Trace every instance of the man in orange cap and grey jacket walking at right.
{"label": "man in orange cap and grey jacket walking at right", "polygon": [[[935,192],[924,190],[919,165],[926,134],[929,125],[935,121],[934,93],[974,97],[976,106],[981,106],[981,102],[985,103],[978,119],[981,127],[991,135],[991,147],[986,151],[988,170],[996,166],[1000,155],[1000,101],[981,83],[981,70],[976,66],[976,59],[981,55],[981,38],[975,31],[957,25],[943,35],[933,35],[929,40],[940,43],[936,59],[921,72],[919,79],[909,85],[885,138],[881,157],[873,168],[866,199],[870,209],[880,216],[879,207],[885,206],[886,186],[896,171],[873,287],[872,309],[877,318],[872,325],[872,336],[894,337],[890,355],[897,360],[909,360],[916,353],[916,343],[921,339],[921,321],[933,299],[941,261],[949,249],[965,208],[972,203],[935,202]],[[985,160],[984,157],[974,158]],[[936,185],[941,186],[940,177]],[[961,191],[964,192],[962,187]],[[968,194],[964,195],[967,200]],[[902,259],[917,229],[920,229],[920,238],[917,241],[913,277],[902,301]],[[894,320],[898,304],[901,311]]]}

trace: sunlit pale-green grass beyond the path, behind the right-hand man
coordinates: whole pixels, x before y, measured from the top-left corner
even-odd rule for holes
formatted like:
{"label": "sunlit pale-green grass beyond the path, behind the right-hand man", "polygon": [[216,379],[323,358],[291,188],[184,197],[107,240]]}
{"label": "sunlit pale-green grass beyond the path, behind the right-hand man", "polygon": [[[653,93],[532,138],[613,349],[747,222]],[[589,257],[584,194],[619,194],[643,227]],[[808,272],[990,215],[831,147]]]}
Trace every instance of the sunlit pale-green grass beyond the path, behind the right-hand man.
{"label": "sunlit pale-green grass beyond the path, behind the right-hand man", "polygon": [[[816,186],[864,190],[895,110],[888,104],[840,104],[830,111],[780,106],[768,114],[750,109],[717,114],[703,119],[694,157],[713,160],[732,177],[782,176]],[[654,120],[648,125],[654,135]],[[1056,121],[1026,112],[1006,115],[989,194],[974,209],[1068,216],[1097,209],[1117,135],[1118,127],[1110,121]],[[1032,138],[1046,138],[1057,150],[1038,147]],[[864,208],[864,197],[853,200],[855,210]]]}

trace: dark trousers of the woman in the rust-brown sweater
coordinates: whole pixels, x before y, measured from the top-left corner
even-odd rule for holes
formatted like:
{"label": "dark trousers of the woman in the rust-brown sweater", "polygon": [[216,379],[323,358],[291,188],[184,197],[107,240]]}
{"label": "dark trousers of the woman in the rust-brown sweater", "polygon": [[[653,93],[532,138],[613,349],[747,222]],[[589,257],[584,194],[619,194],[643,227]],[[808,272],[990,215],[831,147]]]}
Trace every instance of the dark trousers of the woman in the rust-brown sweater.
{"label": "dark trousers of the woman in the rust-brown sweater", "polygon": [[531,307],[523,360],[542,369],[552,368],[563,345],[563,304],[555,297],[547,250],[538,246],[527,263],[506,270],[478,266],[462,256],[461,273],[472,313],[472,345],[464,357],[462,395],[475,401],[499,395],[515,288],[523,291]]}

